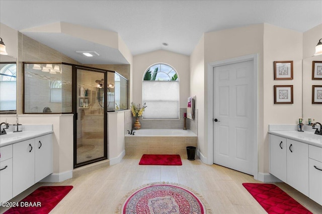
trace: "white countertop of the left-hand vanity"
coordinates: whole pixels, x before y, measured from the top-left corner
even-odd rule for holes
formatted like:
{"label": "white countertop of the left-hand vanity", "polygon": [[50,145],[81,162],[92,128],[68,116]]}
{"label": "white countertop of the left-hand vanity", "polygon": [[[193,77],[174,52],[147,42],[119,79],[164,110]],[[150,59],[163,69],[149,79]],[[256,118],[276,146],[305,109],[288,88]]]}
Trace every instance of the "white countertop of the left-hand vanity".
{"label": "white countertop of the left-hand vanity", "polygon": [[23,126],[19,126],[19,129],[22,131],[21,132],[9,131],[7,132],[7,134],[0,135],[0,147],[53,133],[51,124],[23,125]]}

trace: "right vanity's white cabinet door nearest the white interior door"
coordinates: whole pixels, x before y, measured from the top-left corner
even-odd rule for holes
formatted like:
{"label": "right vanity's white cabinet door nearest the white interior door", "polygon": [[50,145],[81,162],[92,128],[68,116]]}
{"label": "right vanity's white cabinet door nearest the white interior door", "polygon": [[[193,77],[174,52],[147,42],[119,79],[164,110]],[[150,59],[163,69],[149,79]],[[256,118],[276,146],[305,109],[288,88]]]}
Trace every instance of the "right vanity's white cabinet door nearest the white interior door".
{"label": "right vanity's white cabinet door nearest the white interior door", "polygon": [[270,134],[270,173],[286,182],[286,138]]}

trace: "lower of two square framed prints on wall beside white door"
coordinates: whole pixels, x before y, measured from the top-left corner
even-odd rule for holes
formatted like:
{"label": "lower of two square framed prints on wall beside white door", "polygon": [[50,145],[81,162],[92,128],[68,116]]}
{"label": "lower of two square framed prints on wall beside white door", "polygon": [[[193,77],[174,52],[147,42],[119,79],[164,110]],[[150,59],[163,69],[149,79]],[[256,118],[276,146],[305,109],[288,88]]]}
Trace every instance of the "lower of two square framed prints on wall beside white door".
{"label": "lower of two square framed prints on wall beside white door", "polygon": [[274,85],[274,104],[293,104],[293,85]]}

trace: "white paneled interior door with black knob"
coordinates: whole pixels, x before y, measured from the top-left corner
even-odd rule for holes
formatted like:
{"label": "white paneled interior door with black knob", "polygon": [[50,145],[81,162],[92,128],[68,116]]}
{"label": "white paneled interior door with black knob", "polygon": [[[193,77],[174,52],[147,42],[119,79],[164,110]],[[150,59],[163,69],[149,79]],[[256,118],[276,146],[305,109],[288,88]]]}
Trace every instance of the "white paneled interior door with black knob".
{"label": "white paneled interior door with black knob", "polygon": [[213,68],[214,163],[254,175],[254,62]]}

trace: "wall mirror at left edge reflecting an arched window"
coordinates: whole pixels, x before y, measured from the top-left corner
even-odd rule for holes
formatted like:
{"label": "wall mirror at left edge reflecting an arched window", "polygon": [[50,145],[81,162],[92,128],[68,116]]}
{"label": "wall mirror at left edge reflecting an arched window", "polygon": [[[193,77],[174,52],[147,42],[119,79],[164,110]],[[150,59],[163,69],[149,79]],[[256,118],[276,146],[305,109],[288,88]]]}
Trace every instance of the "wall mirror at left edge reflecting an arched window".
{"label": "wall mirror at left edge reflecting an arched window", "polygon": [[0,56],[0,114],[17,112],[17,59]]}

